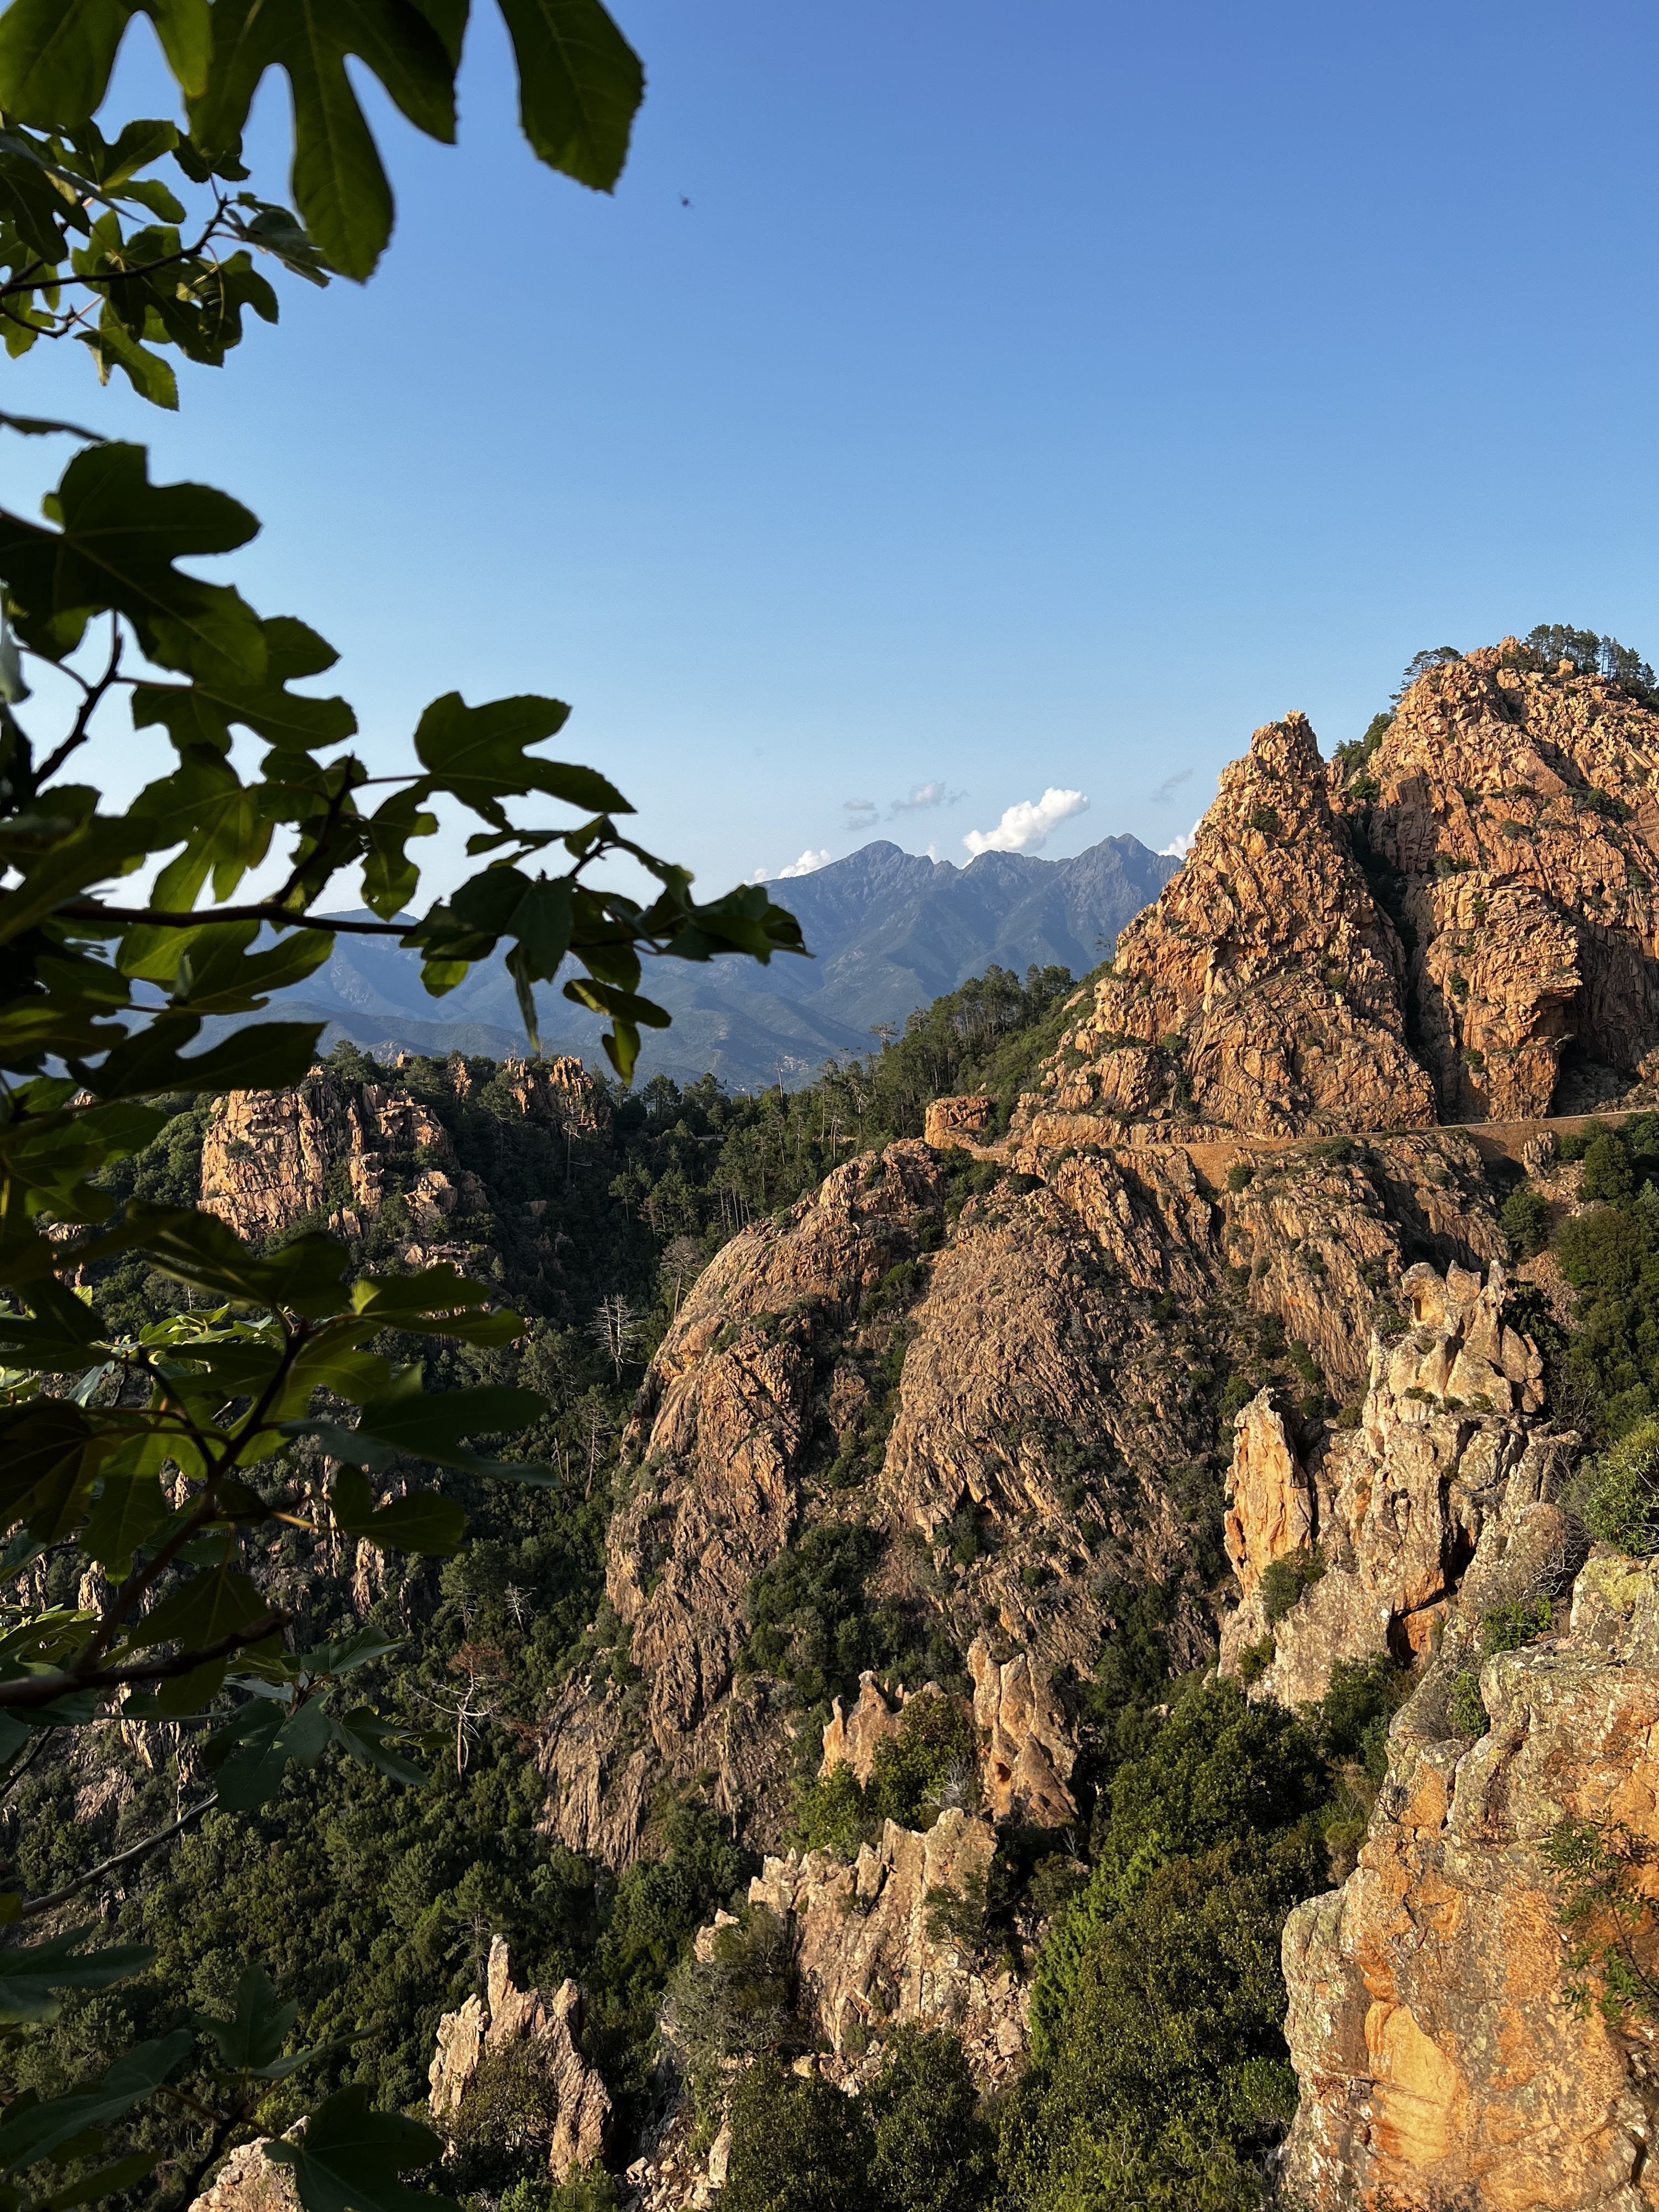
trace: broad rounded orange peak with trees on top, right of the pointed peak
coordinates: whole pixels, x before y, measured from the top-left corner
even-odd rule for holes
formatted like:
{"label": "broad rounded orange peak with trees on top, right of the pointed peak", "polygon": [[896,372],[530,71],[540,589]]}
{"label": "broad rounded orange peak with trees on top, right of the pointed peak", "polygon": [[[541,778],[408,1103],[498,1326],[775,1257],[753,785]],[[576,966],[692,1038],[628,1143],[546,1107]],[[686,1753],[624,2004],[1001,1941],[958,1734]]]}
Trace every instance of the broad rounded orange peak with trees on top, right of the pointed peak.
{"label": "broad rounded orange peak with trees on top, right of the pointed peak", "polygon": [[1551,1113],[1568,1048],[1608,1091],[1659,1048],[1659,714],[1520,659],[1506,639],[1413,684],[1338,792],[1413,942],[1447,1121]]}

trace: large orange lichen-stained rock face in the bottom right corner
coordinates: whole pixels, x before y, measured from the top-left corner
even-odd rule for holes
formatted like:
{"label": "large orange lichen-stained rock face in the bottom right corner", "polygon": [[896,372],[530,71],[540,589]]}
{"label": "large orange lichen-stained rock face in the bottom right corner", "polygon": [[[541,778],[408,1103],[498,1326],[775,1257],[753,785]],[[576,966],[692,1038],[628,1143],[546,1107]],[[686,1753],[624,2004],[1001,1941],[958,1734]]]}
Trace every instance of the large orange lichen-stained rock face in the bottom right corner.
{"label": "large orange lichen-stained rock face in the bottom right corner", "polygon": [[[1533,1555],[1548,1546],[1535,1528]],[[1573,2002],[1544,1847],[1564,1820],[1613,1823],[1652,1896],[1659,1566],[1593,1555],[1564,1635],[1482,1661],[1480,1610],[1535,1573],[1511,1548],[1482,1542],[1447,1646],[1396,1717],[1358,1869],[1285,1929],[1303,2084],[1285,2188],[1316,2212],[1657,2201],[1652,2026],[1617,2002]],[[1475,1668],[1489,1728],[1469,1741],[1451,1690]],[[1630,1929],[1644,1969],[1657,1936],[1648,1902]]]}

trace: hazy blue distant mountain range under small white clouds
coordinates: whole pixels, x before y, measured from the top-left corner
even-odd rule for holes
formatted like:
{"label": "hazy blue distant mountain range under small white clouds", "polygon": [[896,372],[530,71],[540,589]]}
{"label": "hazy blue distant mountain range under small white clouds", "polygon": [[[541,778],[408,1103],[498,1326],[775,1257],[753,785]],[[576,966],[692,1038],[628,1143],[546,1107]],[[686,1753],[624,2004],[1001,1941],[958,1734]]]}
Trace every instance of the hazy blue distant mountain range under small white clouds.
{"label": "hazy blue distant mountain range under small white clouds", "polygon": [[[832,1053],[872,1051],[878,1024],[902,1024],[993,960],[1020,973],[1035,960],[1084,975],[1179,865],[1133,836],[1102,838],[1071,860],[984,852],[967,867],[885,841],[860,845],[814,876],[772,885],[816,958],[648,964],[644,989],[675,1026],[646,1033],[635,1079],[712,1071],[734,1091],[779,1079],[792,1086]],[[526,1048],[500,960],[476,967],[447,998],[429,998],[418,956],[374,938],[336,938],[330,964],[272,1004],[288,1020],[327,1022],[323,1048],[341,1037],[495,1060]],[[604,1060],[597,1015],[557,991],[540,991],[538,1009],[544,1053]]]}

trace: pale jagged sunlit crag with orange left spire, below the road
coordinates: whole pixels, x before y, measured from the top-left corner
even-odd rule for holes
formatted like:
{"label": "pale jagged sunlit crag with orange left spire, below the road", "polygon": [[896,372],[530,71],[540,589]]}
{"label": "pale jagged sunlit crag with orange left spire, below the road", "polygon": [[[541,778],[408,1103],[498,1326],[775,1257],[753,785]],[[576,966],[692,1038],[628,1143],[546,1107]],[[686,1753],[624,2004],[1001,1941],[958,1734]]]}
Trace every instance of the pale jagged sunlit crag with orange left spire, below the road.
{"label": "pale jagged sunlit crag with orange left spire, below the road", "polygon": [[[1225,1542],[1243,1601],[1221,1666],[1272,1646],[1256,1697],[1301,1705],[1338,1661],[1422,1659],[1482,1533],[1559,1486],[1571,1442],[1526,1418],[1544,1402],[1544,1363],[1504,1321],[1504,1270],[1482,1283],[1418,1263],[1402,1292],[1416,1327],[1371,1334],[1358,1427],[1318,1438],[1312,1464],[1267,1394],[1237,1418]],[[1261,1577],[1292,1555],[1318,1579],[1274,1619]]]}

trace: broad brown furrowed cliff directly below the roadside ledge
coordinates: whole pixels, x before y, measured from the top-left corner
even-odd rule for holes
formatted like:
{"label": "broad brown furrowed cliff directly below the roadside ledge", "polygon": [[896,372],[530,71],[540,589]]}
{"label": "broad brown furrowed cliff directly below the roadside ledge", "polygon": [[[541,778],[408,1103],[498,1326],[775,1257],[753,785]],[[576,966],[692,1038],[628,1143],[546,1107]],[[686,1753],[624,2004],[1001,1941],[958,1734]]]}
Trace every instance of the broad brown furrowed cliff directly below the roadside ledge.
{"label": "broad brown furrowed cliff directly below the roadside ledge", "polygon": [[[745,1593],[827,1524],[872,1533],[867,1601],[953,1655],[984,1803],[1066,1825],[1075,1686],[1113,1593],[1166,1588],[1172,1670],[1214,1655],[1221,1376],[1358,1402],[1411,1256],[1475,1270],[1502,1250],[1455,1133],[1248,1155],[1241,1188],[1201,1183],[1179,1148],[1018,1159],[1031,1172],[962,1203],[927,1146],[889,1146],[695,1285],[639,1396],[608,1544],[639,1681],[573,1677],[544,1732],[546,1820],[573,1849],[626,1863],[659,1783],[697,1774],[776,1845],[796,1723],[785,1683],[737,1670]],[[1287,1418],[1301,1438],[1310,1416]],[[1323,1420],[1307,1433],[1287,1449]]]}

